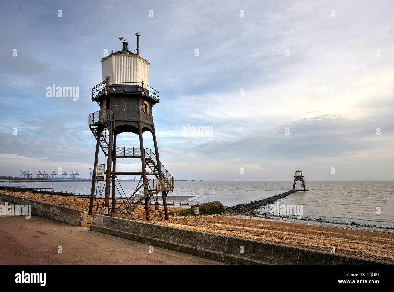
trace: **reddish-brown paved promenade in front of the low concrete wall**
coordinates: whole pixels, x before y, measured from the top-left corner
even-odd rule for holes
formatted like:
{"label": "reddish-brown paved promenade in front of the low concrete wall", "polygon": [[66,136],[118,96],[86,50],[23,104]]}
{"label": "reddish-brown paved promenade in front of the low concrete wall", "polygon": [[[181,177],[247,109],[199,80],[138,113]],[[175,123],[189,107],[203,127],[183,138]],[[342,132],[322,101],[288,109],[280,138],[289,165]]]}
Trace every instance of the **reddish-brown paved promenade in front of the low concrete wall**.
{"label": "reddish-brown paved promenade in front of the low concrete wall", "polygon": [[155,246],[149,253],[147,244],[43,217],[0,216],[0,264],[222,263]]}

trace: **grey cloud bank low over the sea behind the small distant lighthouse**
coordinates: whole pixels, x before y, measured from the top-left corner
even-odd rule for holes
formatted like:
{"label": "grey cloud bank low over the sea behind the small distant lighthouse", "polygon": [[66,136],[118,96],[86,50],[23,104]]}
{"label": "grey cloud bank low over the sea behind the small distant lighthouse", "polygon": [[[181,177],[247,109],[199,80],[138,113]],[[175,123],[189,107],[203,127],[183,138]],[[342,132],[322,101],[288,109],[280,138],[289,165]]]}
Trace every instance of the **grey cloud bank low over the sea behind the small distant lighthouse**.
{"label": "grey cloud bank low over the sea behind the small distant lighthouse", "polygon": [[[200,144],[183,153],[188,161],[183,165],[200,172],[205,168],[199,175],[201,179],[288,179],[295,171],[293,168],[309,170],[309,179],[393,179],[394,155],[389,145],[394,142],[394,128],[386,120],[379,125],[384,135],[376,135],[376,124],[371,118],[351,120],[336,115],[306,118],[238,139]],[[286,128],[290,135],[286,135]],[[239,176],[240,167],[249,172]],[[342,171],[330,176],[331,167]],[[371,167],[373,172],[363,171]],[[217,168],[221,168],[220,173],[214,171]]]}

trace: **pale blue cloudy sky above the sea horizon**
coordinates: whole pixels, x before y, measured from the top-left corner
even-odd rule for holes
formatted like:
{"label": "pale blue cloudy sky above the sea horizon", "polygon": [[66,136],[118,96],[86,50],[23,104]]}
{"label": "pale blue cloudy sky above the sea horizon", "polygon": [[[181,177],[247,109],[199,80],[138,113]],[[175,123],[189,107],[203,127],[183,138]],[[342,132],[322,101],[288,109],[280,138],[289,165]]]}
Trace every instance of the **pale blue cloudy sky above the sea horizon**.
{"label": "pale blue cloudy sky above the sea horizon", "polygon": [[[139,31],[160,91],[160,160],[175,179],[392,180],[392,11],[392,1],[3,3],[0,176],[61,167],[89,177],[100,60],[121,37],[136,49]],[[53,84],[78,87],[78,100],[48,98]],[[210,131],[195,137],[193,126]],[[139,146],[138,136],[117,144]],[[118,171],[140,167],[117,159]]]}

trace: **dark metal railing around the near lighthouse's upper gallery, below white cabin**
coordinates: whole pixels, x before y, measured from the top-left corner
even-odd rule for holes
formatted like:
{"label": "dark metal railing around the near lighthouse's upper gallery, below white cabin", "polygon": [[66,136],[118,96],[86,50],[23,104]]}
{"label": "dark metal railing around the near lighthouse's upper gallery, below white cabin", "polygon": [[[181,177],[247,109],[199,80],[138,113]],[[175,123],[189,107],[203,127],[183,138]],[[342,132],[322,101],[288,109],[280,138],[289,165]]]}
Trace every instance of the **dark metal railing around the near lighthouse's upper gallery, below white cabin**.
{"label": "dark metal railing around the near lighthouse's upper gallery, below white cabin", "polygon": [[[119,88],[117,85],[138,85],[137,91],[129,91],[130,87],[125,86],[123,90]],[[101,94],[104,94],[106,91],[107,92],[113,92],[115,91],[116,87],[116,92],[127,92],[127,93],[135,93],[135,92],[145,92],[147,91],[147,94],[149,97],[160,101],[160,96],[159,96],[159,91],[156,91],[156,89],[150,87],[146,83],[143,82],[126,82],[126,81],[102,81],[99,84],[97,84],[95,87],[92,88],[92,98],[95,98]],[[141,91],[139,90],[141,88]],[[145,91],[144,91],[145,89]]]}

